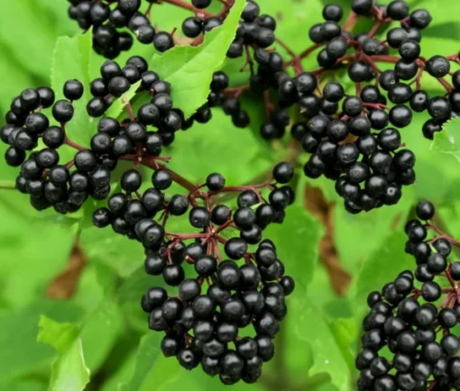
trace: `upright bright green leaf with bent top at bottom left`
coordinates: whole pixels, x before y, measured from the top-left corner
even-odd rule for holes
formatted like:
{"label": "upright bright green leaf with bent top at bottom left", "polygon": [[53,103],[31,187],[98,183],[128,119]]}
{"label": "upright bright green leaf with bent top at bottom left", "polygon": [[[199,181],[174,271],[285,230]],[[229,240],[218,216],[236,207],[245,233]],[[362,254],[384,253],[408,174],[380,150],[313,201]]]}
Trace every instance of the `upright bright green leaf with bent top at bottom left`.
{"label": "upright bright green leaf with bent top at bottom left", "polygon": [[82,391],[89,383],[89,369],[85,364],[78,328],[71,323],[57,323],[41,316],[38,341],[58,350],[52,364],[50,391]]}

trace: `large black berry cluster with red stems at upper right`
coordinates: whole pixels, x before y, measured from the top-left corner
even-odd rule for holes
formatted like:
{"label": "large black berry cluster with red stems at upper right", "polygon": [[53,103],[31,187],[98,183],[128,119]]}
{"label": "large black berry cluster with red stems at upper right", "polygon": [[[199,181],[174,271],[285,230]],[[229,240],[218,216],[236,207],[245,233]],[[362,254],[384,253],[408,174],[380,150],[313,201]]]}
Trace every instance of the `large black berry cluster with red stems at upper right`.
{"label": "large black berry cluster with red stems at upper right", "polygon": [[[257,7],[248,3],[246,8],[257,9],[252,15],[257,17]],[[325,21],[309,31],[313,46],[299,55],[278,40],[291,57],[287,62],[276,51],[238,41],[246,49],[250,85],[228,91],[233,99],[226,111],[240,108],[235,100],[245,91],[259,92],[266,107],[266,121],[260,132],[262,138],[271,141],[284,137],[290,124],[289,109],[296,105],[305,120],[294,123],[290,133],[311,154],[304,167],[306,176],[324,175],[336,181],[336,191],[345,199],[345,208],[355,214],[398,203],[402,186],[415,182],[416,157],[404,148],[400,129],[409,126],[413,112],[428,110],[432,119],[424,125],[423,132],[433,138],[446,120],[456,116],[460,95],[455,88],[460,83],[460,71],[453,74],[454,86],[450,86],[444,77],[450,72],[449,61],[457,62],[458,55],[420,57],[421,31],[432,19],[428,11],[410,12],[402,0],[389,5],[354,0],[352,9],[341,25],[342,7],[326,5]],[[374,21],[371,31],[352,32],[360,18]],[[378,39],[381,27],[394,21],[400,27],[389,29],[385,38]],[[390,55],[391,50],[397,50],[399,56]],[[301,61],[313,53],[317,53],[319,68],[305,71]],[[381,70],[378,63],[391,64],[393,69]],[[294,77],[287,71],[290,67],[295,71]],[[346,68],[354,84],[353,94],[345,84],[322,83],[323,77],[340,68]],[[430,97],[421,89],[424,73],[435,77],[448,96]]]}

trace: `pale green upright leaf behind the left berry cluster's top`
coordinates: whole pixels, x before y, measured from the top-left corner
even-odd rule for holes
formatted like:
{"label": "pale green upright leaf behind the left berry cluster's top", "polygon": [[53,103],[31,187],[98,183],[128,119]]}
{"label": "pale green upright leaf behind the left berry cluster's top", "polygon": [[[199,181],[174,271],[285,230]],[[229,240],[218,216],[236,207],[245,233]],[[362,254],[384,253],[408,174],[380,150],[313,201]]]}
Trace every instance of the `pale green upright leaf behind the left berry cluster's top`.
{"label": "pale green upright leaf behind the left berry cluster's top", "polygon": [[92,50],[92,32],[74,38],[60,37],[56,42],[52,57],[51,86],[56,99],[63,99],[63,86],[67,80],[78,79],[85,86],[85,93],[74,102],[75,114],[66,125],[69,138],[81,145],[89,145],[95,132],[96,123],[87,115],[87,102],[92,95],[89,91],[89,57]]}

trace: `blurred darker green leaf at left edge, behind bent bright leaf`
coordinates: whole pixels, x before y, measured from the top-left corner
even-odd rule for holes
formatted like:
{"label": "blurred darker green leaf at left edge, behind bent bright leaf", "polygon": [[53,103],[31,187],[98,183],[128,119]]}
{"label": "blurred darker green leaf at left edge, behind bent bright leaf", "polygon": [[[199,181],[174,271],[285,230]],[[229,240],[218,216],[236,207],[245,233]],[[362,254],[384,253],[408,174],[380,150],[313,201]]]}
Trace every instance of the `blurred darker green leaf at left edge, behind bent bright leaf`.
{"label": "blurred darker green leaf at left edge, behind bent bright leaf", "polygon": [[[0,389],[4,382],[32,371],[45,370],[53,358],[49,346],[37,342],[40,314],[61,322],[78,322],[81,309],[62,301],[41,301],[23,310],[0,315]],[[9,389],[9,388],[7,388]]]}

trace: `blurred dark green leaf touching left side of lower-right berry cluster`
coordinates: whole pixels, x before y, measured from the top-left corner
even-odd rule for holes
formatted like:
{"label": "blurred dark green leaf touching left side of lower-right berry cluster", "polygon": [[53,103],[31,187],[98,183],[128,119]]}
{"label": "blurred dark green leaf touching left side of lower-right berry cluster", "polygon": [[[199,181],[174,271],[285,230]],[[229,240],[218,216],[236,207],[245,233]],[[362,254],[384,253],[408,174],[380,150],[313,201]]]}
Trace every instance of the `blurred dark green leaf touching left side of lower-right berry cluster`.
{"label": "blurred dark green leaf touching left side of lower-right berry cluster", "polygon": [[406,241],[404,232],[388,234],[382,247],[364,260],[357,279],[356,308],[365,306],[368,294],[394,281],[401,271],[415,269],[415,259],[404,251]]}

